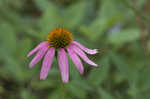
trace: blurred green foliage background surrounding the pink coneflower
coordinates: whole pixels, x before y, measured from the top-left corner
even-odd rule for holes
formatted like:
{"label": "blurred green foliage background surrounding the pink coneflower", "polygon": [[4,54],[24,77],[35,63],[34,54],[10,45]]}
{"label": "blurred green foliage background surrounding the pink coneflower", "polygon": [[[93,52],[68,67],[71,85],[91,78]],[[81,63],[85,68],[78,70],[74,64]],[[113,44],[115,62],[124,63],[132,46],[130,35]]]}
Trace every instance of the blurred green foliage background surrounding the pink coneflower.
{"label": "blurred green foliage background surrounding the pink coneflower", "polygon": [[[150,99],[149,12],[150,0],[0,0],[0,99]],[[26,57],[56,27],[99,49],[84,75],[69,60],[65,89],[56,59],[40,81]]]}

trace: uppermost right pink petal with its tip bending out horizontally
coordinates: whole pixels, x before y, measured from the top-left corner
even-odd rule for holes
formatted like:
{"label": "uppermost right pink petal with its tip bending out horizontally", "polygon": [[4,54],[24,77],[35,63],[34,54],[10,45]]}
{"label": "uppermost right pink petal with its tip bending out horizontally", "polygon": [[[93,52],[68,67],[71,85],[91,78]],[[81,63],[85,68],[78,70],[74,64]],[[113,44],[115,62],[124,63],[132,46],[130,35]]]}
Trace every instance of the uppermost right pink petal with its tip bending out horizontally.
{"label": "uppermost right pink petal with its tip bending out horizontally", "polygon": [[88,54],[98,53],[97,49],[93,49],[93,50],[88,49],[88,48],[84,47],[83,45],[81,45],[80,43],[78,43],[77,41],[73,41],[73,44],[77,45],[79,48],[81,48],[82,50],[84,50]]}

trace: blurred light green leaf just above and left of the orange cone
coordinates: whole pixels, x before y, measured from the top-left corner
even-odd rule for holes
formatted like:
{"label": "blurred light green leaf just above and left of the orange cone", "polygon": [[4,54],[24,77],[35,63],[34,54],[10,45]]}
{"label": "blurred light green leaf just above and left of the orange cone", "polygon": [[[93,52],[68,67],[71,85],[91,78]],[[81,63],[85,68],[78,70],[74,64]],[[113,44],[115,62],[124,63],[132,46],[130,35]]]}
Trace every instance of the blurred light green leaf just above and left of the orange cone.
{"label": "blurred light green leaf just above and left of the orange cone", "polygon": [[49,6],[43,11],[39,24],[41,29],[41,38],[45,38],[48,33],[56,27],[63,26],[62,17],[58,8],[50,3]]}

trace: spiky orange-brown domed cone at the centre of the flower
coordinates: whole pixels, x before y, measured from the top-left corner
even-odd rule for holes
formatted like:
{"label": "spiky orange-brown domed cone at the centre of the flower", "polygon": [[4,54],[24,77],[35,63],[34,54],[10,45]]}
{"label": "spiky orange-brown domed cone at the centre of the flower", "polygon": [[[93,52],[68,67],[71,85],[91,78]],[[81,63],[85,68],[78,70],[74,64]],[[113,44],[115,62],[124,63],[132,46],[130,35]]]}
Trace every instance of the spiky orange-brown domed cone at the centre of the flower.
{"label": "spiky orange-brown domed cone at the centre of the flower", "polygon": [[56,28],[48,34],[46,40],[49,41],[51,47],[65,48],[72,42],[73,37],[72,34],[64,28]]}

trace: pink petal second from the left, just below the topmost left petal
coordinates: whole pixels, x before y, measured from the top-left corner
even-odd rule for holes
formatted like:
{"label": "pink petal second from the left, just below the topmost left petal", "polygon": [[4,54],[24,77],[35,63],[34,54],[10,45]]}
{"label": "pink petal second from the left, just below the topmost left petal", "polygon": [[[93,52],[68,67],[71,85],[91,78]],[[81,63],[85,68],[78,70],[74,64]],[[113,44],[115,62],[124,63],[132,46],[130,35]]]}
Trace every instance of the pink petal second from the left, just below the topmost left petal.
{"label": "pink petal second from the left, just below the topmost left petal", "polygon": [[49,48],[48,46],[45,46],[37,52],[36,56],[32,59],[32,61],[29,64],[30,68],[32,68],[35,64],[37,64],[41,60],[41,58],[45,55],[48,48]]}

